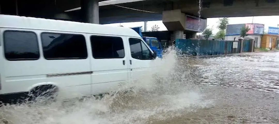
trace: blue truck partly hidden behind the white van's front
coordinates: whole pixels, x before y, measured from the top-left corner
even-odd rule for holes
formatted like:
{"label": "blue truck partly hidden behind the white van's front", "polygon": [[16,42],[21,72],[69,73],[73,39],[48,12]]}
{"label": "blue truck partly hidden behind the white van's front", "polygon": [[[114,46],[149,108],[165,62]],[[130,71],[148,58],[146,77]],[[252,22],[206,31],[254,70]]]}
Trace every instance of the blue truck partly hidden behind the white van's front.
{"label": "blue truck partly hidden behind the white van's front", "polygon": [[161,46],[159,40],[156,37],[143,36],[141,27],[134,27],[132,29],[135,30],[138,34],[140,34],[143,37],[143,39],[151,48],[151,50],[156,51],[157,56],[159,58],[163,57],[163,47]]}

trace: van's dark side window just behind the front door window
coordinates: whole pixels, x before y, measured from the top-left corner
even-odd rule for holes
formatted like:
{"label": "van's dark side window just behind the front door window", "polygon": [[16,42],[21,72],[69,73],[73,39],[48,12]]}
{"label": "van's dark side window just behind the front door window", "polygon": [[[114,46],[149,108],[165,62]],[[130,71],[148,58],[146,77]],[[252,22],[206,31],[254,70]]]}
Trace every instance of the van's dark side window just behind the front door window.
{"label": "van's dark side window just behind the front door window", "polygon": [[124,58],[124,46],[121,37],[91,36],[92,54],[95,59]]}

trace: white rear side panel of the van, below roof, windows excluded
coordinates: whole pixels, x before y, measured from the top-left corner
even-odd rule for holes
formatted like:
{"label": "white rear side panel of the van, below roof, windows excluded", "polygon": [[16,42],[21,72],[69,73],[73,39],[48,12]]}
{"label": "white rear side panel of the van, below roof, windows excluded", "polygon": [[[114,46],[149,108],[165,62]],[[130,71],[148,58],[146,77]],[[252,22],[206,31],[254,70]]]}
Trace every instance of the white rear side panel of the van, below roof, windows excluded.
{"label": "white rear side panel of the van, below roof, windows excluded", "polygon": [[[91,76],[85,75],[71,75],[71,76],[54,76],[47,77],[48,74],[59,73],[74,73],[74,72],[90,72],[90,58],[87,59],[71,59],[71,60],[46,60],[44,59],[42,42],[39,38],[43,30],[28,30],[28,29],[15,29],[15,28],[2,28],[5,30],[24,30],[35,32],[38,36],[40,58],[38,60],[28,61],[9,61],[4,59],[5,77],[8,83],[3,84],[5,89],[2,94],[28,92],[32,88],[41,85],[51,84],[59,89],[59,95],[63,97],[79,97],[91,94]],[[53,31],[48,31],[53,32]],[[55,31],[56,33],[63,33]],[[72,33],[71,34],[82,34]],[[87,45],[90,46],[90,45]],[[87,52],[87,54],[89,54]],[[5,57],[4,57],[5,58]],[[78,66],[82,65],[82,66]],[[15,87],[16,86],[16,87]],[[30,87],[32,86],[32,87]],[[31,88],[31,89],[30,89]],[[80,90],[80,92],[76,92]],[[67,95],[72,93],[72,96]]]}

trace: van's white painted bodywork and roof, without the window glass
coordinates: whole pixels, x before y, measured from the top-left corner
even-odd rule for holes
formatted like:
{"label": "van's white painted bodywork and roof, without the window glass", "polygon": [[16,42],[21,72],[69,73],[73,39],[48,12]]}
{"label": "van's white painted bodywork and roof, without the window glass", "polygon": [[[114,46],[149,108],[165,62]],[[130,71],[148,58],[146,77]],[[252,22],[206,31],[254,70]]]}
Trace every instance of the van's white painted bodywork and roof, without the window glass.
{"label": "van's white painted bodywork and roof, without the window glass", "polygon": [[[140,78],[142,71],[150,67],[152,61],[136,60],[131,57],[129,38],[143,39],[130,28],[9,15],[0,15],[0,20],[0,85],[2,88],[0,95],[29,92],[42,85],[58,87],[58,97],[62,98],[106,93],[118,88],[119,83],[130,78]],[[24,61],[7,60],[4,54],[3,36],[6,30],[36,33],[40,58]],[[43,32],[83,35],[86,40],[87,58],[45,59],[41,41]],[[91,35],[121,37],[125,57],[95,59],[92,55]],[[151,51],[149,47],[148,49]]]}

